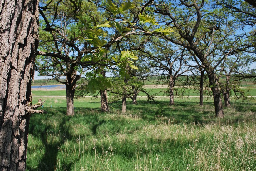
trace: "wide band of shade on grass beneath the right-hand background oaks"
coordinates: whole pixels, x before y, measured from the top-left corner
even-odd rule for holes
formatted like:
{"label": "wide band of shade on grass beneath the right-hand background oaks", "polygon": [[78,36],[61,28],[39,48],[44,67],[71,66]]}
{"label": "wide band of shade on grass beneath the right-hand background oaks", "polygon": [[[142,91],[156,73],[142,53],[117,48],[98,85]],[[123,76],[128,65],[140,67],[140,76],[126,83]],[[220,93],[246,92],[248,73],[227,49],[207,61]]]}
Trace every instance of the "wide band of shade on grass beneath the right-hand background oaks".
{"label": "wide band of shade on grass beneath the right-hand background oaks", "polygon": [[[244,105],[246,104],[234,104],[232,107],[237,111],[250,110],[254,112],[255,105],[248,105],[248,108],[244,108]],[[111,103],[110,107],[114,111],[120,110],[121,102]],[[195,125],[204,125],[217,120],[215,117],[214,104],[212,102],[204,102],[204,106],[202,107],[199,106],[198,102],[194,101],[178,101],[172,106],[169,105],[168,101],[147,102],[146,100],[140,100],[137,105],[133,105],[131,101],[128,101],[127,111],[128,115],[131,117],[139,117],[149,123],[160,121],[167,124],[170,119],[172,124],[193,123]],[[224,115],[220,123],[226,124],[226,120],[229,120],[233,124],[239,123],[244,120],[244,116],[233,117],[232,115],[228,115],[226,117],[226,115]]]}

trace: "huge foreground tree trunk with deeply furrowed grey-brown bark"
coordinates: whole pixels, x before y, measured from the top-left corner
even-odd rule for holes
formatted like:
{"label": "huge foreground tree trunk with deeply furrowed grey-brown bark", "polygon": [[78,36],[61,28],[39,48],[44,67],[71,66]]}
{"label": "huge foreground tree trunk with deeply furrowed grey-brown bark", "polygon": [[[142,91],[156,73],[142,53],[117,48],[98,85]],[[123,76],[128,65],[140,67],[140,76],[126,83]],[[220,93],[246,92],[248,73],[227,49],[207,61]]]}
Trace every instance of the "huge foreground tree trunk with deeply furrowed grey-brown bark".
{"label": "huge foreground tree trunk with deeply furrowed grey-brown bark", "polygon": [[25,170],[38,1],[2,1],[0,14],[0,170]]}

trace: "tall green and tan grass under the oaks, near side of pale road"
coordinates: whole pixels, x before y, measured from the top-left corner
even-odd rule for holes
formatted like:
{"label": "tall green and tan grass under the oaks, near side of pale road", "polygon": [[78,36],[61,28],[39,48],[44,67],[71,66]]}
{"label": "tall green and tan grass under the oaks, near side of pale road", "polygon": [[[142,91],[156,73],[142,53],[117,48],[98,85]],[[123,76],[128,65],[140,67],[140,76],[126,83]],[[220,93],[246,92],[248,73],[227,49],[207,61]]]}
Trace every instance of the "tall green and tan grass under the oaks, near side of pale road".
{"label": "tall green and tan grass under the oaks, near side of pale road", "polygon": [[[33,101],[37,101],[34,97]],[[100,112],[100,100],[75,100],[66,116],[65,97],[44,97],[46,114],[30,120],[27,170],[255,170],[256,100],[232,100],[224,118],[211,99],[168,98],[138,105],[121,101]],[[52,105],[52,108],[50,107]]]}

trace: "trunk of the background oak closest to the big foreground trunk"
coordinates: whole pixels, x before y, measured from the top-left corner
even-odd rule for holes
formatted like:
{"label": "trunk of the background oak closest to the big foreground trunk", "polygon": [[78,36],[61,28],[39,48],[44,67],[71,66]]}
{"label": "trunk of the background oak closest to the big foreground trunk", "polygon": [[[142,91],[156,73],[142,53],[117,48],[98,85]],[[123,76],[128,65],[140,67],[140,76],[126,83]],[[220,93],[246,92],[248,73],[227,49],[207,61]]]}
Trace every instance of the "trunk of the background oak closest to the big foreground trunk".
{"label": "trunk of the background oak closest to the big foreground trunk", "polygon": [[66,75],[66,100],[67,100],[67,116],[74,116],[74,96],[76,84],[72,79],[72,75]]}

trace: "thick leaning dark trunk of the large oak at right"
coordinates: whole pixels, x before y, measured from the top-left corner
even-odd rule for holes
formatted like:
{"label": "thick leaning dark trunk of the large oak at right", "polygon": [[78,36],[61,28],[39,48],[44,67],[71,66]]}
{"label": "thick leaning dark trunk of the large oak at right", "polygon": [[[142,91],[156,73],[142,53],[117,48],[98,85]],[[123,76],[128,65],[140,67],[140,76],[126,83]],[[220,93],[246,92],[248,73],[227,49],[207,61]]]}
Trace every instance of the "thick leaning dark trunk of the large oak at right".
{"label": "thick leaning dark trunk of the large oak at right", "polygon": [[219,82],[217,81],[217,78],[213,71],[207,72],[207,74],[208,74],[210,86],[213,92],[215,116],[222,118],[224,116],[224,112],[223,112],[223,106],[221,101],[221,89],[219,86]]}

